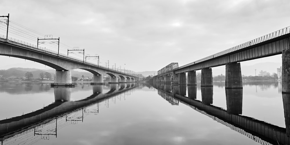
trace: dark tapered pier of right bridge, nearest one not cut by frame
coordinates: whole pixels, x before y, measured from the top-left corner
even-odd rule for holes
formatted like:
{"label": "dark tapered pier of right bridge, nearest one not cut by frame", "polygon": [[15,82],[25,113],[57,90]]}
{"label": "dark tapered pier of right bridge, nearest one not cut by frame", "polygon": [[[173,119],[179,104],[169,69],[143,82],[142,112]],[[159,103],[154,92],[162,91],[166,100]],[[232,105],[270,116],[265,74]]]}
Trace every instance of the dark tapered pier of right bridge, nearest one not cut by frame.
{"label": "dark tapered pier of right bridge, nearest one not cut by frame", "polygon": [[243,88],[241,64],[226,64],[226,86],[225,88]]}

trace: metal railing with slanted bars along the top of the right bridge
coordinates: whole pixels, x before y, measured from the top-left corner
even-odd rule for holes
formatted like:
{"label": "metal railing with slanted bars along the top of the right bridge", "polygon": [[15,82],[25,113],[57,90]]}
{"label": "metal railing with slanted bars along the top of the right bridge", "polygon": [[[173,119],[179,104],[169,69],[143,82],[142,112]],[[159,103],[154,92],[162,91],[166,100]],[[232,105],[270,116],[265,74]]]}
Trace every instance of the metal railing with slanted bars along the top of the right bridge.
{"label": "metal railing with slanted bars along the top of the right bridge", "polygon": [[246,48],[246,47],[249,47],[249,46],[253,46],[255,44],[259,44],[261,42],[264,42],[264,41],[268,41],[270,39],[273,39],[273,38],[276,38],[276,37],[280,37],[282,35],[285,35],[285,34],[289,34],[290,33],[290,26],[286,27],[286,28],[283,28],[283,29],[280,29],[278,31],[275,31],[275,32],[272,32],[272,33],[269,33],[267,35],[264,35],[262,37],[259,37],[259,38],[256,38],[256,39],[253,39],[251,41],[248,41],[248,42],[245,42],[243,44],[240,44],[238,46],[234,46],[232,48],[229,48],[229,49],[226,49],[224,51],[221,51],[221,52],[218,52],[218,53],[215,53],[213,55],[210,55],[208,57],[204,57],[202,59],[199,59],[197,61],[193,61],[189,64],[186,64],[184,66],[180,66],[179,68],[184,68],[184,67],[187,67],[187,66],[191,66],[193,64],[197,64],[197,63],[200,63],[202,61],[206,61],[206,60],[209,60],[209,59],[213,59],[215,57],[219,57],[219,56],[222,56],[222,55],[225,55],[227,53],[231,53],[231,52],[234,52],[236,50],[240,50],[240,49],[243,49],[243,48]]}

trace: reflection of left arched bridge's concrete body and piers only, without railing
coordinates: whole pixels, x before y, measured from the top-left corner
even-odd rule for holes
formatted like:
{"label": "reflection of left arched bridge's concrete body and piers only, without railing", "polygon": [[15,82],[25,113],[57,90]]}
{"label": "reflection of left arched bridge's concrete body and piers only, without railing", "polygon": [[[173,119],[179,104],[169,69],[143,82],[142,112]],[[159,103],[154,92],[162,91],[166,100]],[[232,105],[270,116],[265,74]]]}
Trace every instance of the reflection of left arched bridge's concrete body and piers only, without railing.
{"label": "reflection of left arched bridge's concrete body and piers only, without railing", "polygon": [[41,124],[46,124],[53,119],[96,104],[104,99],[130,91],[138,86],[138,83],[111,84],[110,90],[107,93],[103,93],[103,85],[92,85],[93,95],[79,101],[70,101],[71,88],[69,86],[55,86],[55,103],[28,114],[0,120],[0,141],[3,143],[3,140],[9,137]]}

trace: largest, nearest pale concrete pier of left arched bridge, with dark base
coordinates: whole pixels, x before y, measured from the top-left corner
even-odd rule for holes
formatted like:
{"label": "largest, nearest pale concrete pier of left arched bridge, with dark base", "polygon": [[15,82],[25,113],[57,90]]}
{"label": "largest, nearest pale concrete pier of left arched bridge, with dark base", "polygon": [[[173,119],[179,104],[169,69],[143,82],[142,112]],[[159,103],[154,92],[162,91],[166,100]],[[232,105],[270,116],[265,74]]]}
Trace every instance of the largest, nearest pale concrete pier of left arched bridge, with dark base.
{"label": "largest, nearest pale concrete pier of left arched bridge, with dark base", "polygon": [[72,75],[70,70],[56,70],[55,81],[51,86],[75,86],[72,84]]}

